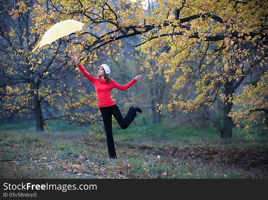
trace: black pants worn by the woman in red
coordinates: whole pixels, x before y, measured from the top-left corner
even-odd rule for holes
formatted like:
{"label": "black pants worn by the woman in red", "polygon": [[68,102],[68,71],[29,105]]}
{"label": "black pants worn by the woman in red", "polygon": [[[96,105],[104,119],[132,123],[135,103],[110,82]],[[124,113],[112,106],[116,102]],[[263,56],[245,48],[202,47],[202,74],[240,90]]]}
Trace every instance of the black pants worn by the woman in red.
{"label": "black pants worn by the woman in red", "polygon": [[100,107],[100,110],[106,132],[108,153],[110,157],[116,158],[117,156],[115,152],[115,143],[112,132],[112,115],[115,117],[120,127],[122,129],[126,129],[136,117],[136,111],[133,108],[129,108],[129,112],[127,113],[125,118],[123,118],[117,105],[109,107]]}

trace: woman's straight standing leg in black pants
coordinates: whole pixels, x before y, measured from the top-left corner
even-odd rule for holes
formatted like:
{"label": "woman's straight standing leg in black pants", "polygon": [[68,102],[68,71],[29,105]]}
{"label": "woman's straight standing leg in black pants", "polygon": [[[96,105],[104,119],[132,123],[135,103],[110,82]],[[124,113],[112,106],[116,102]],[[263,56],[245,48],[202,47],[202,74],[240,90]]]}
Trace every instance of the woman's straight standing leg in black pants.
{"label": "woman's straight standing leg in black pants", "polygon": [[102,120],[106,132],[106,139],[107,139],[107,147],[108,147],[108,153],[109,156],[112,158],[116,158],[116,152],[115,152],[115,143],[113,138],[113,132],[112,132],[112,114],[109,111],[110,109],[107,108],[100,108]]}

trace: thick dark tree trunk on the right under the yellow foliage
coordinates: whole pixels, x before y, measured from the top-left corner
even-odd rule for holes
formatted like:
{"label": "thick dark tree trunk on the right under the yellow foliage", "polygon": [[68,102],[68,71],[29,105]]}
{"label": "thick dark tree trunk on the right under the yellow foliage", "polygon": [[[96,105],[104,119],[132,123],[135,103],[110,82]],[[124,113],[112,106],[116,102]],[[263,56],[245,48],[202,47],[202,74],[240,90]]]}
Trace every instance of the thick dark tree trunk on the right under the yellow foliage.
{"label": "thick dark tree trunk on the right under the yellow foliage", "polygon": [[233,103],[228,101],[230,95],[231,100],[233,100],[233,93],[234,88],[232,86],[232,82],[229,82],[228,80],[224,84],[224,94],[226,100],[224,99],[224,105],[223,105],[223,131],[221,132],[221,138],[228,139],[232,137],[232,118],[228,116],[228,114],[231,112],[231,109],[233,107]]}

